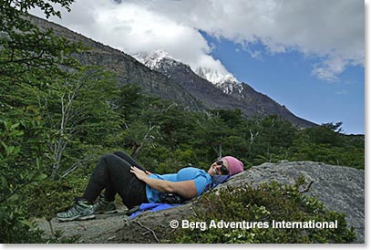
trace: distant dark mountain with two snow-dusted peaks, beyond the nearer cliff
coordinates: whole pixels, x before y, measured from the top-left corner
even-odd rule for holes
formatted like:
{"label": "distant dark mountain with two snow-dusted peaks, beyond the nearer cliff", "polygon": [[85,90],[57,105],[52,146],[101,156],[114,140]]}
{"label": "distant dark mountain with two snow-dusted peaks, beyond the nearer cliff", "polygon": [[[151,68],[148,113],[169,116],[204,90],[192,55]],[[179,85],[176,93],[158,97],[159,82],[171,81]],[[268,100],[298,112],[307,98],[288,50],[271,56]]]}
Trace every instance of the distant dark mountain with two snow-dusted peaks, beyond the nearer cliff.
{"label": "distant dark mountain with two snow-dusted peaks, beyond the nearer cliff", "polygon": [[201,99],[211,109],[242,109],[246,117],[275,114],[301,128],[315,125],[313,122],[296,117],[284,106],[267,95],[255,91],[248,84],[238,82],[232,75],[223,76],[208,68],[198,68],[196,70],[198,75],[188,65],[160,50],[150,54],[141,53],[135,57],[147,67],[180,83],[191,95]]}

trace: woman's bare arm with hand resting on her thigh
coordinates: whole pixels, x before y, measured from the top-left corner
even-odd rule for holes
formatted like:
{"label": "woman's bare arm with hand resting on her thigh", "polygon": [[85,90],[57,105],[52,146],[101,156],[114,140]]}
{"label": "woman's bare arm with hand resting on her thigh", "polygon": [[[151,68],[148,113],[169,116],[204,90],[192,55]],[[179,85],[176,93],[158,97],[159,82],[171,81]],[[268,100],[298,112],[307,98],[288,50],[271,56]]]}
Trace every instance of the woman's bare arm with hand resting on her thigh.
{"label": "woman's bare arm with hand resting on her thigh", "polygon": [[197,197],[196,184],[193,181],[169,182],[153,179],[137,167],[131,167],[130,172],[134,173],[140,181],[146,182],[151,188],[161,193],[177,193],[186,199]]}

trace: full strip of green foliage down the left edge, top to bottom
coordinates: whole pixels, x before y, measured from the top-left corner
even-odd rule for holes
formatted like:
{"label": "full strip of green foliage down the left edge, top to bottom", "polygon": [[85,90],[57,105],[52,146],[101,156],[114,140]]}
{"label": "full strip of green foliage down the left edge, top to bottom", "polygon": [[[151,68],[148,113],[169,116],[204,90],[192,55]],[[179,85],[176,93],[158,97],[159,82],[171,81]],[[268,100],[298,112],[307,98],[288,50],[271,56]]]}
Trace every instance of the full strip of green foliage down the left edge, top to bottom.
{"label": "full strip of green foliage down the left edge, top to bottom", "polygon": [[[53,0],[69,8],[70,0]],[[66,76],[62,66],[78,68],[70,57],[81,47],[64,37],[41,30],[28,16],[40,8],[46,17],[60,16],[53,5],[40,0],[1,1],[0,4],[0,180],[2,243],[35,242],[27,222],[26,190],[45,179],[47,135],[37,108],[37,89],[51,79]]]}

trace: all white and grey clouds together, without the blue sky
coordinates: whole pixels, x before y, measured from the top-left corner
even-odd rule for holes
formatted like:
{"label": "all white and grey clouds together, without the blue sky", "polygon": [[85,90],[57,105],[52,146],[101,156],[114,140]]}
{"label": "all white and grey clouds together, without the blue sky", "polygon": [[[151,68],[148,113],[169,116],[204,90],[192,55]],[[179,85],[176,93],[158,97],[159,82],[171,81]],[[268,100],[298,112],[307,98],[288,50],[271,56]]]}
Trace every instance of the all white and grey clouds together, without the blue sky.
{"label": "all white and grey clouds together, without the blue sky", "polygon": [[[354,0],[79,0],[57,21],[134,54],[157,48],[196,68],[222,72],[201,36],[241,44],[252,57],[299,51],[318,61],[312,74],[335,81],[348,66],[364,66],[365,6]],[[262,44],[264,51],[252,50]]]}

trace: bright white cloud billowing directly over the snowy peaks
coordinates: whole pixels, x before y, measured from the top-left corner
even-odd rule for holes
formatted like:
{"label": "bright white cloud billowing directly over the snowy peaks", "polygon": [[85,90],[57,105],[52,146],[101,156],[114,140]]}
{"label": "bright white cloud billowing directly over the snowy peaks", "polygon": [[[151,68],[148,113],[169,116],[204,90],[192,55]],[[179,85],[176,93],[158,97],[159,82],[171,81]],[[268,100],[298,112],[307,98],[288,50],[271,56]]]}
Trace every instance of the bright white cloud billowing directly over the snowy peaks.
{"label": "bright white cloud billowing directly over the snowy peaks", "polygon": [[[213,46],[197,28],[153,12],[142,4],[80,0],[72,5],[70,13],[62,13],[62,20],[52,21],[130,55],[163,49],[193,69],[204,66],[228,73],[220,60],[210,56]],[[34,14],[41,16],[36,11]]]}

